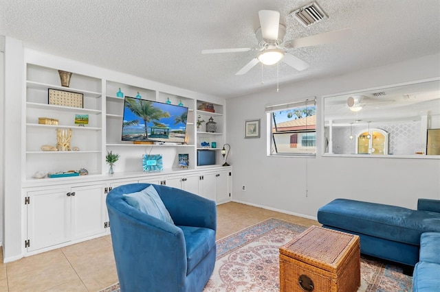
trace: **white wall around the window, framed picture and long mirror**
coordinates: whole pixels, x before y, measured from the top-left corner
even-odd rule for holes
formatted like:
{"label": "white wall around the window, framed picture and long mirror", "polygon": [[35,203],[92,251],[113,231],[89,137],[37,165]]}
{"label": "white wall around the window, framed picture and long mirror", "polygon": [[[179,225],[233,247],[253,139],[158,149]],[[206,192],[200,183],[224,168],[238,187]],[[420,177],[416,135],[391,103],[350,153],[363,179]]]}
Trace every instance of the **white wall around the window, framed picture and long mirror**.
{"label": "white wall around the window, framed picture and long mirror", "polygon": [[[322,95],[440,76],[440,54],[347,75],[298,82],[226,101],[234,200],[316,218],[320,206],[337,197],[416,208],[417,198],[440,199],[440,160],[409,158],[266,156],[265,106],[305,97],[318,99],[317,145],[321,145]],[[247,119],[261,119],[261,138],[243,138]],[[241,187],[245,184],[246,191]]]}

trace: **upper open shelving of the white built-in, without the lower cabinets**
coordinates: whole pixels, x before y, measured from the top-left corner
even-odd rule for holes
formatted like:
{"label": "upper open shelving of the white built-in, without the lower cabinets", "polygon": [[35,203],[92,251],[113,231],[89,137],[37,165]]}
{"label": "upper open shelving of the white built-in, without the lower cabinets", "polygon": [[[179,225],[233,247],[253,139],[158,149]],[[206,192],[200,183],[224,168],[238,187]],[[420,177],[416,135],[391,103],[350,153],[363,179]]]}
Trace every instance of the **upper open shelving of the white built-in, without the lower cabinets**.
{"label": "upper open shelving of the white built-in, without the lower cabinets", "polygon": [[[212,103],[209,100],[195,97],[186,97],[166,90],[156,90],[135,82],[118,82],[102,77],[87,75],[81,71],[72,72],[69,87],[61,86],[58,69],[66,70],[63,65],[54,68],[43,66],[41,62],[34,64],[32,60],[26,62],[26,101],[25,101],[25,173],[24,180],[34,180],[32,175],[36,171],[58,172],[85,168],[89,175],[105,175],[107,166],[105,155],[107,151],[120,154],[120,161],[116,164],[117,171],[140,171],[142,155],[162,154],[165,169],[179,169],[178,154],[188,154],[190,169],[197,169],[197,150],[202,142],[217,143],[213,150],[221,150],[225,143],[223,115],[224,105]],[[66,70],[67,71],[67,70]],[[141,82],[142,83],[142,82]],[[83,94],[83,108],[56,106],[48,104],[47,90],[71,91]],[[182,145],[142,145],[122,141],[122,114],[124,98],[117,97],[119,88],[124,96],[166,102],[171,104],[182,103],[188,107],[188,121],[186,125],[186,143]],[[173,90],[170,90],[173,91]],[[204,102],[214,105],[215,112],[198,110]],[[89,124],[80,127],[74,124],[75,114],[88,114]],[[41,125],[39,118],[58,119],[58,125]],[[197,117],[205,121],[197,130]],[[206,122],[212,117],[217,123],[217,132],[205,132]],[[78,147],[79,151],[42,151],[42,145],[56,145],[56,129],[72,129],[71,147]],[[138,160],[139,163],[135,163]],[[220,151],[217,151],[217,165],[223,163]],[[203,167],[206,169],[206,167]]]}

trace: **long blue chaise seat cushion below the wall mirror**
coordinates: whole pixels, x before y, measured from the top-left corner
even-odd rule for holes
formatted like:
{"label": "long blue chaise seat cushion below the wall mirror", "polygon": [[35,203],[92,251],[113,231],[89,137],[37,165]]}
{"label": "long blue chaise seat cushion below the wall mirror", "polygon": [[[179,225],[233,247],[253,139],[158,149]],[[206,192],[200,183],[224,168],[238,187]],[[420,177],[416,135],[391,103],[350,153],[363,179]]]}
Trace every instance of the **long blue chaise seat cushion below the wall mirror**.
{"label": "long blue chaise seat cushion below the wall mirror", "polygon": [[439,213],[351,199],[334,199],[322,206],[318,210],[318,221],[326,226],[417,246],[423,232],[440,232]]}

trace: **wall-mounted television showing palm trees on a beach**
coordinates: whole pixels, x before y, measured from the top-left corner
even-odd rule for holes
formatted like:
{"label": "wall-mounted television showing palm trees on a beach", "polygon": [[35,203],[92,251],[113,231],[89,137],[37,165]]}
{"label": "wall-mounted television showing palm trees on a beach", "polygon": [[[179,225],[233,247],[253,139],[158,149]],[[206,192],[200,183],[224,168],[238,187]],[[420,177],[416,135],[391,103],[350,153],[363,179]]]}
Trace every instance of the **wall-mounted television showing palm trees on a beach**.
{"label": "wall-mounted television showing palm trees on a beach", "polygon": [[125,97],[122,141],[185,143],[188,108]]}

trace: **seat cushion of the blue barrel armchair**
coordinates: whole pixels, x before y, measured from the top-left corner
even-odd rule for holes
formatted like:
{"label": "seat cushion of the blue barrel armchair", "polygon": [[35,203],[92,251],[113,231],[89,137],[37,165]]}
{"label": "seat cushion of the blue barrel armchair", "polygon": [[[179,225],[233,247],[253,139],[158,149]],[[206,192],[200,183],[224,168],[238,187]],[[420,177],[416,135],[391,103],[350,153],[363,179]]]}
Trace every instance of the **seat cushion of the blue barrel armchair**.
{"label": "seat cushion of the blue barrel armchair", "polygon": [[186,274],[188,275],[215,246],[215,232],[209,228],[178,226],[186,243]]}

